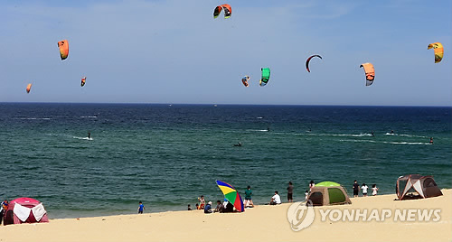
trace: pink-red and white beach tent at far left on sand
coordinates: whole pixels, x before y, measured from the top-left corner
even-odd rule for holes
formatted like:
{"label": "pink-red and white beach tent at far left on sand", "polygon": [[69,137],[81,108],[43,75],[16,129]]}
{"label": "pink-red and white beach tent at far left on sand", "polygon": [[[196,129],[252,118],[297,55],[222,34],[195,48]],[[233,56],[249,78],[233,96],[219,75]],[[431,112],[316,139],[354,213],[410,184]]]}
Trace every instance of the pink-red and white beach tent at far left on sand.
{"label": "pink-red and white beach tent at far left on sand", "polygon": [[47,223],[47,211],[39,200],[19,198],[9,202],[4,225],[22,223]]}

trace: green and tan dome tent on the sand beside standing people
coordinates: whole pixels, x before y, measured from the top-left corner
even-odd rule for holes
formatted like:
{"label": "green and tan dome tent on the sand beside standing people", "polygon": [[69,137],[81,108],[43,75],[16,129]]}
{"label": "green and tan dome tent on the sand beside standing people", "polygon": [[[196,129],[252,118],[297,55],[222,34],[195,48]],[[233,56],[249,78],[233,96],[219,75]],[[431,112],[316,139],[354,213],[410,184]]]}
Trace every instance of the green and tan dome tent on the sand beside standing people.
{"label": "green and tan dome tent on the sand beside standing people", "polygon": [[334,181],[315,184],[307,200],[311,200],[313,206],[352,204],[344,187]]}

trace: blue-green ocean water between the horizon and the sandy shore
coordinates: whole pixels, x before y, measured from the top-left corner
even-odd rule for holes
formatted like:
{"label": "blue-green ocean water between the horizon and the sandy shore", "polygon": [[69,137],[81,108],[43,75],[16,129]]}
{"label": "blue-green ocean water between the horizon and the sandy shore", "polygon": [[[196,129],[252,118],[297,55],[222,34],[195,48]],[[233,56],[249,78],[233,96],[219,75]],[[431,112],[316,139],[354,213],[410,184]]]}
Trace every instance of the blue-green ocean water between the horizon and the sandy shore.
{"label": "blue-green ocean water between the horizon and the sandy shore", "polygon": [[354,180],[393,194],[410,173],[452,188],[451,110],[0,103],[0,200],[41,200],[61,219],[136,213],[139,200],[145,212],[215,202],[216,180],[242,196],[250,185],[255,204],[274,191],[287,201],[288,181],[295,200],[311,180],[350,196]]}

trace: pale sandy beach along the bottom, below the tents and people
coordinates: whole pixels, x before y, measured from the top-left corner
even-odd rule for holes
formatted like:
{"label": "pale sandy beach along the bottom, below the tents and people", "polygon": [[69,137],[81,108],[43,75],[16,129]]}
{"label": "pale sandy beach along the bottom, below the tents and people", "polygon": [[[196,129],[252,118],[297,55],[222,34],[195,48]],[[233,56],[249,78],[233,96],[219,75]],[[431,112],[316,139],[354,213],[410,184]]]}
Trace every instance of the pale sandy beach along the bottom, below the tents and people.
{"label": "pale sandy beach along the bottom, below the tents and people", "polygon": [[[168,211],[80,219],[51,219],[46,224],[0,227],[0,241],[451,241],[452,190],[425,200],[394,200],[395,195],[352,198],[353,204],[315,207],[310,227],[293,231],[287,220],[290,203],[261,205],[244,213],[204,214],[201,210]],[[384,221],[331,220],[326,209],[390,209]],[[396,209],[439,209],[429,221],[405,221]],[[338,212],[332,217],[335,219]],[[52,216],[52,215],[51,215]],[[325,220],[322,221],[322,217]],[[394,221],[396,219],[396,221]],[[414,221],[408,221],[414,219]],[[438,221],[433,221],[438,220]]]}

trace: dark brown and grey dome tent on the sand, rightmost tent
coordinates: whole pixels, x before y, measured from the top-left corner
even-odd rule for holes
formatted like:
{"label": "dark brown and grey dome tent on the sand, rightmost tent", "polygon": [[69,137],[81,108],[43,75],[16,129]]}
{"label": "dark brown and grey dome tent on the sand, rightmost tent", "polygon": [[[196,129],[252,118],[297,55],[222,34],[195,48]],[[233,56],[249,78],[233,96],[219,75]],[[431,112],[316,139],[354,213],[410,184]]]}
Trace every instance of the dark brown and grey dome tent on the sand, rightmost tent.
{"label": "dark brown and grey dome tent on the sand, rightmost tent", "polygon": [[399,200],[417,200],[442,196],[433,176],[410,174],[397,179],[396,193]]}

